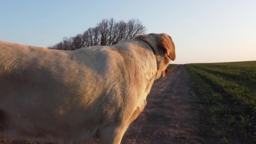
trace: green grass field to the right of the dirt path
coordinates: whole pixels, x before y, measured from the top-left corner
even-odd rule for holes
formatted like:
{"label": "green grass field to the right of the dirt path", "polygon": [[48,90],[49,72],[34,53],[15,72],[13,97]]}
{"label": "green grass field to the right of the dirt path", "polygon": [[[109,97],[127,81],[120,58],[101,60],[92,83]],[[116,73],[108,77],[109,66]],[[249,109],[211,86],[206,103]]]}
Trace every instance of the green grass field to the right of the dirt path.
{"label": "green grass field to the right of the dirt path", "polygon": [[[186,64],[216,136],[256,143],[256,61]],[[224,142],[224,143],[226,143]]]}

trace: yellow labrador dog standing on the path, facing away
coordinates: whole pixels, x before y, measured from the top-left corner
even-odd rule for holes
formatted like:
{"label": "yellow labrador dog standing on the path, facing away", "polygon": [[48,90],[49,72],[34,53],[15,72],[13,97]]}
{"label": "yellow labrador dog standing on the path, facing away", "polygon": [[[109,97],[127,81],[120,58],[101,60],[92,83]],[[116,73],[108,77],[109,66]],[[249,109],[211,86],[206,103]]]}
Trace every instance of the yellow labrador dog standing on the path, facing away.
{"label": "yellow labrador dog standing on the path, facing away", "polygon": [[120,144],[175,58],[165,33],[75,51],[0,47],[0,137]]}

